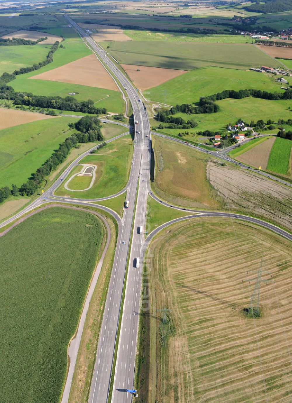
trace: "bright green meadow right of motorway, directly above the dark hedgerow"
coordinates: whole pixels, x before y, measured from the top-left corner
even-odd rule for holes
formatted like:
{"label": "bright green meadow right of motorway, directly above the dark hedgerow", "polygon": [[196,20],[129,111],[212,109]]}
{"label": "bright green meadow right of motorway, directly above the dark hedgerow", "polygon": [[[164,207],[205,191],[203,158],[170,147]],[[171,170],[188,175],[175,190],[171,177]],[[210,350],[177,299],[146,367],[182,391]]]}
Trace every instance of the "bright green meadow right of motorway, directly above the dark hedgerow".
{"label": "bright green meadow right of motorway, directly above the dark hedgerow", "polygon": [[203,67],[151,88],[145,93],[145,97],[151,101],[176,105],[198,102],[202,96],[209,96],[225,89],[238,91],[239,89],[257,88],[271,92],[283,92],[280,87],[282,85],[276,83],[275,78],[269,77],[267,74]]}

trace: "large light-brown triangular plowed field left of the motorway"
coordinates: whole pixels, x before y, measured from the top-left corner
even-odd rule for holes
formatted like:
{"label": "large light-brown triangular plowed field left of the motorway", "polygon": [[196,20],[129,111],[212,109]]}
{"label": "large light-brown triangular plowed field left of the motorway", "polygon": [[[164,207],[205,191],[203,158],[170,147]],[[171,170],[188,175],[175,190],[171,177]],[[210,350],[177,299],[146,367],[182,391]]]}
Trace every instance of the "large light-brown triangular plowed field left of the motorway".
{"label": "large light-brown triangular plowed field left of the motorway", "polygon": [[94,54],[30,78],[34,80],[61,81],[62,83],[88,85],[89,87],[117,91],[115,81],[113,81]]}

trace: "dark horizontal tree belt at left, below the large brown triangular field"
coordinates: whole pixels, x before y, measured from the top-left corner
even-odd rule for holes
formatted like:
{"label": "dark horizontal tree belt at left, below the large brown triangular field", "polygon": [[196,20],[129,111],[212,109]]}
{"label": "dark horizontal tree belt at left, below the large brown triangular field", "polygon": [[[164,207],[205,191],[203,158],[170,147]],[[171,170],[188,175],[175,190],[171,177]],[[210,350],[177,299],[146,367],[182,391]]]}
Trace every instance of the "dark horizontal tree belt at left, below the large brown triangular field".
{"label": "dark horizontal tree belt at left, below the large brown triangular field", "polygon": [[0,84],[0,99],[11,100],[15,105],[26,105],[36,108],[70,110],[90,114],[104,114],[106,108],[96,108],[92,100],[78,101],[72,96],[33,95],[29,92],[17,92],[7,84]]}

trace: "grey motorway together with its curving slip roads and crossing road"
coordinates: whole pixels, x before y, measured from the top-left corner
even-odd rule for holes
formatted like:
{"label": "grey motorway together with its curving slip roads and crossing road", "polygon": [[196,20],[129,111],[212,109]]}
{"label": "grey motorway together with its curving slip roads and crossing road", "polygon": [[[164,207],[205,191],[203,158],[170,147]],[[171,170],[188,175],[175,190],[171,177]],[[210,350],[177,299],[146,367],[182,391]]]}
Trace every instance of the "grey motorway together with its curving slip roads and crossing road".
{"label": "grey motorway together with its curving slip roads and crossing road", "polygon": [[[104,315],[102,319],[102,326],[98,339],[98,347],[96,351],[96,362],[94,366],[94,373],[92,376],[92,384],[90,389],[89,402],[106,403],[108,400],[109,386],[111,377],[113,378],[113,394],[112,402],[123,403],[130,402],[132,395],[127,393],[127,389],[134,389],[134,374],[135,374],[135,358],[136,358],[136,345],[137,345],[137,335],[138,335],[138,325],[139,325],[139,309],[140,309],[140,293],[141,293],[141,280],[142,280],[142,262],[144,258],[144,253],[146,247],[152,237],[158,233],[161,229],[165,228],[167,225],[181,221],[188,220],[190,218],[197,217],[225,217],[225,218],[238,218],[241,220],[246,220],[265,226],[265,228],[270,229],[282,235],[290,240],[292,240],[292,235],[287,231],[278,228],[275,225],[269,224],[262,220],[257,220],[256,218],[244,216],[241,214],[232,214],[224,212],[206,212],[201,210],[191,210],[183,209],[176,206],[171,206],[167,202],[159,200],[158,197],[152,194],[150,189],[150,147],[151,147],[151,131],[148,116],[144,104],[139,99],[139,94],[136,88],[133,87],[132,83],[121,73],[117,66],[113,63],[111,58],[108,57],[106,52],[100,48],[94,40],[73,20],[66,16],[69,23],[78,31],[81,38],[94,50],[96,56],[101,60],[106,69],[111,72],[111,75],[115,80],[119,82],[119,85],[123,87],[123,90],[127,93],[129,102],[131,103],[133,109],[133,116],[135,122],[135,144],[133,152],[133,161],[131,166],[131,172],[129,176],[129,181],[125,189],[122,189],[119,193],[111,195],[108,197],[100,199],[77,199],[73,197],[58,197],[54,195],[54,191],[62,183],[63,179],[67,177],[69,172],[79,164],[80,160],[87,154],[90,150],[81,154],[74,160],[68,168],[56,179],[55,183],[40,197],[35,199],[29,206],[24,208],[15,216],[9,218],[8,220],[0,224],[0,228],[10,224],[15,219],[23,216],[27,212],[46,204],[48,202],[59,202],[59,203],[71,203],[83,206],[94,206],[101,208],[102,210],[109,212],[117,220],[119,226],[119,234],[117,239],[117,245],[115,249],[115,257],[113,262],[113,269],[111,273],[111,279],[108,288],[108,295],[104,307]],[[109,122],[103,119],[104,122]],[[117,122],[112,122],[116,123]],[[137,123],[137,124],[136,124]],[[125,128],[127,125],[121,123]],[[126,132],[127,133],[127,132]],[[126,133],[123,133],[107,142],[113,141]],[[152,132],[155,135],[171,139],[172,141],[178,141],[184,145],[196,148],[201,152],[213,154],[214,156],[227,160],[229,162],[236,163],[242,167],[243,164],[235,162],[227,156],[219,156],[215,152],[206,151],[195,145],[186,144],[184,141],[174,139],[166,135],[161,135],[156,132]],[[96,147],[96,146],[95,146]],[[92,147],[92,148],[95,148]],[[245,167],[248,168],[248,167]],[[259,173],[257,170],[255,172]],[[261,172],[265,176],[268,176],[264,172]],[[285,183],[279,179],[279,182]],[[290,184],[289,184],[290,185]],[[113,210],[93,204],[93,202],[98,202],[98,200],[109,199],[115,197],[127,191],[126,200],[129,200],[129,207],[125,209],[123,214],[123,219],[113,212]],[[187,212],[193,213],[188,217],[182,217],[177,220],[172,220],[169,223],[165,223],[159,228],[155,229],[147,238],[144,239],[144,229],[145,229],[145,218],[146,218],[146,204],[148,194],[151,194],[157,201],[165,204],[166,206],[176,208],[179,210],[186,210]],[[195,214],[196,213],[196,214]],[[138,231],[138,227],[143,228],[143,233]],[[140,259],[140,266],[137,266],[137,258]],[[129,262],[127,268],[127,261]],[[128,270],[128,272],[127,272]],[[126,278],[127,274],[127,278]],[[123,287],[125,285],[125,298],[123,310],[121,310],[122,293]],[[121,319],[121,331],[119,340],[117,340],[117,331],[119,324],[119,317],[122,314]],[[113,357],[115,348],[117,350],[117,362],[115,366],[115,373],[113,371]],[[70,385],[69,385],[70,386]],[[64,395],[62,402],[67,402],[69,396],[68,393]]]}

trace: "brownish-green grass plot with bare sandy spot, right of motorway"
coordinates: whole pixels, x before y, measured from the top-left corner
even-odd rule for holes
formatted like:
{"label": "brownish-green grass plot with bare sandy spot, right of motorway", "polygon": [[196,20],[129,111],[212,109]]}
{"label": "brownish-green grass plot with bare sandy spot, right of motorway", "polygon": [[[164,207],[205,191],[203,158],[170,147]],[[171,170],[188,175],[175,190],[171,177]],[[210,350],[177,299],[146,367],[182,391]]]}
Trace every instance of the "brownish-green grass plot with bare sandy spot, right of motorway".
{"label": "brownish-green grass plot with bare sandy spot, right of motorway", "polygon": [[169,203],[217,209],[206,178],[208,157],[196,150],[159,137],[152,138],[155,155],[154,192]]}

